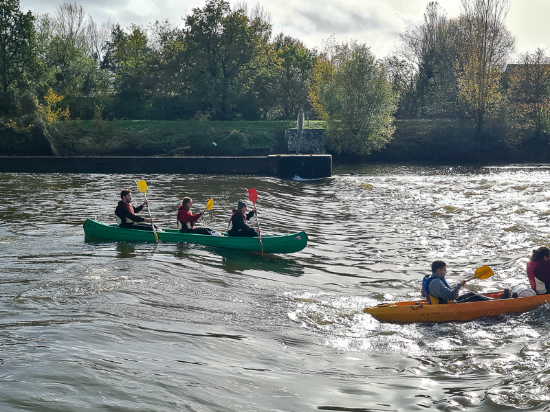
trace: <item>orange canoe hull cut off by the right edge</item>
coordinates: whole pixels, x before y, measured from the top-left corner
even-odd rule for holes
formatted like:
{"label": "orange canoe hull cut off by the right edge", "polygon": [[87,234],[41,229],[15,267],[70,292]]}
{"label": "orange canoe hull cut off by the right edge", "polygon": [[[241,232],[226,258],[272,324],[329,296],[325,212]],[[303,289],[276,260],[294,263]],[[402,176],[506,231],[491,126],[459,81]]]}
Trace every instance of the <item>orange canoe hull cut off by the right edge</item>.
{"label": "orange canoe hull cut off by the right edge", "polygon": [[471,321],[478,317],[498,316],[509,312],[525,312],[536,306],[550,302],[550,295],[515,297],[498,299],[502,291],[486,293],[495,300],[481,302],[465,302],[459,304],[428,305],[425,300],[394,302],[366,308],[363,312],[381,322],[413,323],[413,322],[448,322]]}

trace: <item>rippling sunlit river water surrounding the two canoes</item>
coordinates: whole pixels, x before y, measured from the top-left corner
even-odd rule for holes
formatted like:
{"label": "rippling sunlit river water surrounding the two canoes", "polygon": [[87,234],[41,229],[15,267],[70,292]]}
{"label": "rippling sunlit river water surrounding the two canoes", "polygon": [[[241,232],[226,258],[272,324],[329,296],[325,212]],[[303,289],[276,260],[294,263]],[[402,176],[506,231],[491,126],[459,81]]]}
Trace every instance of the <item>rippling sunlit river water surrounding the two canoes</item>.
{"label": "rippling sunlit river water surrounding the two canoes", "polygon": [[[292,255],[85,240],[123,187],[175,227],[190,195],[225,230],[245,188]],[[478,292],[527,284],[549,244],[550,168],[377,165],[317,181],[251,176],[0,174],[0,411],[550,410],[549,308],[384,324],[433,260]],[[249,203],[250,205],[250,203]],[[144,214],[144,212],[142,212]],[[255,223],[255,220],[252,220]]]}

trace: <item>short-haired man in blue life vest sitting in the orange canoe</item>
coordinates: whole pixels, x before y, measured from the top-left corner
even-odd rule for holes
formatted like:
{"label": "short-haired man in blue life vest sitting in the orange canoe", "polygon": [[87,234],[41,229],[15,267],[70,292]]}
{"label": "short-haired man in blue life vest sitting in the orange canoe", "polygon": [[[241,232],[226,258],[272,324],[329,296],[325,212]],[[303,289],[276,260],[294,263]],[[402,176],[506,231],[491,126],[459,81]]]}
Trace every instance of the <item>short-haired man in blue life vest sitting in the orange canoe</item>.
{"label": "short-haired man in blue life vest sitting in the orange canoe", "polygon": [[[447,304],[449,302],[477,302],[492,300],[492,297],[478,295],[473,292],[464,293],[459,296],[460,289],[466,284],[466,280],[461,280],[454,288],[451,288],[445,279],[447,273],[447,264],[443,260],[436,260],[432,263],[432,274],[424,276],[422,280],[422,293],[426,297],[428,304]],[[509,292],[508,292],[509,295]]]}

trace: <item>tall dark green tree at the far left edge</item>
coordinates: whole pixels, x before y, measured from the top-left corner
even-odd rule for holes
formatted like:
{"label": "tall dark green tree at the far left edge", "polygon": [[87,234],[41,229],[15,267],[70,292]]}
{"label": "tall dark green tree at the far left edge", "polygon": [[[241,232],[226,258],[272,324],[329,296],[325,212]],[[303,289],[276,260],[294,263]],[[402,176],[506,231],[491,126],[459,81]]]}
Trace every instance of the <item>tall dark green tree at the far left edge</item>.
{"label": "tall dark green tree at the far left edge", "polygon": [[0,111],[14,106],[14,95],[25,91],[39,71],[34,16],[23,14],[19,0],[0,2]]}

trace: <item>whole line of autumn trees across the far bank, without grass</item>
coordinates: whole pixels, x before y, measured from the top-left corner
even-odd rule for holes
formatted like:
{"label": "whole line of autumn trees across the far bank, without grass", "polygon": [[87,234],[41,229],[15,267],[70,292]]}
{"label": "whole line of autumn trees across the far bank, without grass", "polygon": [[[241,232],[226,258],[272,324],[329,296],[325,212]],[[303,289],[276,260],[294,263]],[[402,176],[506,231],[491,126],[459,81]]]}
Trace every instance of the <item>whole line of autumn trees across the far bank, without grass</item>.
{"label": "whole line of autumn trees across the far bank, without grass", "polygon": [[[24,129],[62,119],[327,120],[336,152],[382,148],[395,119],[430,119],[480,147],[547,143],[550,61],[542,49],[509,65],[508,0],[437,2],[384,58],[331,37],[317,49],[272,33],[260,6],[208,0],[148,27],[98,25],[76,3],[54,14],[0,3],[0,115]],[[533,140],[534,139],[534,140]]]}

